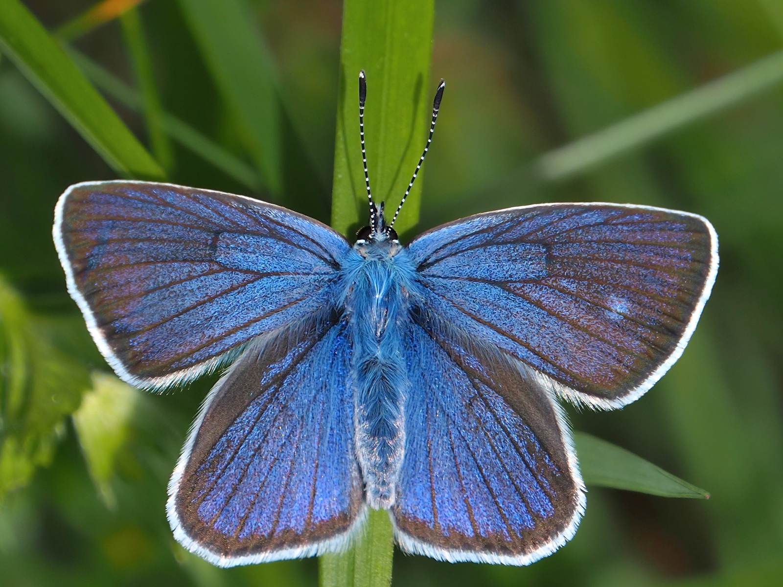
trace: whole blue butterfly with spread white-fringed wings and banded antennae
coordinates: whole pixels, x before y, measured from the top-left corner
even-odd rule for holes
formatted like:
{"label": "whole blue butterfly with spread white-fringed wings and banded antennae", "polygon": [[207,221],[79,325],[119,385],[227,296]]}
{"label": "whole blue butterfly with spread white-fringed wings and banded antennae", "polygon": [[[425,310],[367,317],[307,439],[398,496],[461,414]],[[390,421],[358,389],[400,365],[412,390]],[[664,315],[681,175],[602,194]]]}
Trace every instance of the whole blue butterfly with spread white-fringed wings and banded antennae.
{"label": "whole blue butterfly with spread white-fringed wings and banded antennae", "polygon": [[[361,74],[363,154],[365,98]],[[53,231],[68,290],[129,384],[233,362],[169,484],[189,551],[222,567],[339,551],[373,508],[408,553],[532,563],[585,508],[558,399],[619,408],[666,373],[715,280],[713,226],[548,203],[404,246],[363,158],[370,225],[353,245],[243,196],[72,185]]]}

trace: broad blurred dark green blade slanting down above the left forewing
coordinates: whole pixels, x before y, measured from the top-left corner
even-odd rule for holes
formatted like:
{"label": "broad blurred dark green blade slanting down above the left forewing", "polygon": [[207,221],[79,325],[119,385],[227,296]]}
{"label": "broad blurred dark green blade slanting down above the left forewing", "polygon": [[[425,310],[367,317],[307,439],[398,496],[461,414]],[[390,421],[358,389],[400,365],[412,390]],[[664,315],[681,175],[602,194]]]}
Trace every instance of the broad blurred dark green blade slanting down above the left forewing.
{"label": "broad blurred dark green blade slanting down above the left forewing", "polygon": [[180,0],[215,85],[240,122],[265,187],[283,189],[274,68],[244,0]]}

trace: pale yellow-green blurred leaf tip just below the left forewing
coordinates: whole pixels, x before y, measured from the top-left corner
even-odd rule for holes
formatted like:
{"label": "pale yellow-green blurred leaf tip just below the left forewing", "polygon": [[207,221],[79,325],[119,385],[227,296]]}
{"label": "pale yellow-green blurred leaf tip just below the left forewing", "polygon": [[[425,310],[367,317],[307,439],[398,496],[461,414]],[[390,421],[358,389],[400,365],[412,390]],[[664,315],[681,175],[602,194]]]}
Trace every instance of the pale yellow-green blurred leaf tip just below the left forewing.
{"label": "pale yellow-green blurred leaf tip just below the left forewing", "polygon": [[87,468],[98,493],[110,510],[117,507],[111,488],[117,456],[131,435],[139,391],[113,375],[92,374],[92,389],[74,412],[74,428],[79,437]]}

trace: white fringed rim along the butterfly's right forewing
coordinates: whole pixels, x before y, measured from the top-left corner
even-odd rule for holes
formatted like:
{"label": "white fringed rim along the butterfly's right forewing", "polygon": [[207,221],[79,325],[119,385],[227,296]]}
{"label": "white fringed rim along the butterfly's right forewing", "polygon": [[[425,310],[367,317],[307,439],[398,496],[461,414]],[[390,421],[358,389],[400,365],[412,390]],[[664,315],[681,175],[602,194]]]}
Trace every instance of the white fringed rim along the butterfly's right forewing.
{"label": "white fringed rim along the butterfly's right forewing", "polygon": [[616,207],[616,208],[626,209],[626,210],[648,210],[654,212],[666,212],[669,214],[681,214],[683,216],[687,216],[689,218],[695,218],[698,221],[701,221],[705,225],[707,232],[709,232],[709,244],[710,244],[709,272],[707,273],[706,279],[704,281],[702,294],[698,298],[698,302],[695,304],[693,312],[691,313],[691,318],[688,321],[687,326],[685,326],[685,330],[680,336],[680,339],[677,340],[677,346],[673,348],[673,350],[669,353],[669,356],[666,357],[666,359],[652,373],[650,373],[646,379],[641,381],[640,384],[637,384],[636,387],[630,388],[630,390],[626,391],[624,394],[622,394],[617,398],[613,398],[613,399],[598,398],[595,396],[591,396],[589,394],[584,394],[580,391],[576,391],[575,389],[572,389],[571,387],[568,387],[567,385],[561,384],[559,381],[554,380],[554,378],[547,376],[544,373],[540,373],[536,369],[533,369],[532,367],[522,363],[523,365],[525,365],[526,369],[529,369],[532,372],[532,375],[536,377],[536,380],[538,380],[539,384],[543,385],[550,391],[554,392],[554,394],[556,394],[557,397],[565,399],[566,401],[572,403],[573,405],[577,405],[577,406],[588,405],[594,409],[606,409],[606,410],[618,409],[630,403],[636,402],[637,399],[639,399],[642,395],[650,391],[652,386],[658,383],[661,377],[664,376],[666,372],[671,368],[671,366],[673,366],[673,364],[677,362],[677,359],[679,359],[680,356],[682,356],[683,351],[685,350],[685,347],[688,344],[688,341],[691,340],[691,336],[696,330],[698,319],[701,318],[702,311],[704,310],[704,306],[707,303],[707,300],[709,300],[709,294],[711,294],[713,291],[713,285],[715,284],[715,279],[718,275],[718,265],[720,263],[720,257],[718,256],[718,235],[715,232],[715,228],[713,227],[712,223],[709,220],[707,220],[701,214],[695,214],[693,212],[672,210],[671,208],[662,208],[657,206],[644,206],[643,204],[633,204],[633,203],[612,203],[612,202],[535,203],[535,204],[529,204],[527,206],[514,206],[509,208],[503,208],[502,210],[482,212],[480,214],[474,214],[472,216],[467,216],[466,218],[460,218],[459,220],[447,222],[446,224],[439,225],[433,229],[429,229],[428,231],[422,232],[419,236],[413,239],[413,241],[411,241],[410,244],[412,245],[422,236],[428,235],[431,232],[436,232],[439,229],[446,228],[447,226],[460,224],[466,220],[471,220],[473,218],[482,218],[483,216],[493,216],[495,214],[504,214],[508,212],[529,211],[542,207],[571,207],[571,206],[607,206],[607,207]]}

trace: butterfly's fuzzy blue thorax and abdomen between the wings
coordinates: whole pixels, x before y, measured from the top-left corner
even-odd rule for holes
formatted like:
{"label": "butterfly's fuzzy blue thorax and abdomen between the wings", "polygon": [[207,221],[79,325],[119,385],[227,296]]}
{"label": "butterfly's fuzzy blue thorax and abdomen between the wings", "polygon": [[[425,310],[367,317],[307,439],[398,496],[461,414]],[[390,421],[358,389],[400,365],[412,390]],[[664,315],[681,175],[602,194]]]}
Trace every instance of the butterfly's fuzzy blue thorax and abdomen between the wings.
{"label": "butterfly's fuzzy blue thorax and abdomen between the wings", "polygon": [[356,452],[370,506],[388,508],[402,465],[406,390],[402,343],[415,269],[390,239],[357,243],[342,268],[352,338]]}

